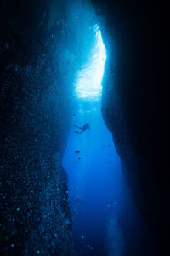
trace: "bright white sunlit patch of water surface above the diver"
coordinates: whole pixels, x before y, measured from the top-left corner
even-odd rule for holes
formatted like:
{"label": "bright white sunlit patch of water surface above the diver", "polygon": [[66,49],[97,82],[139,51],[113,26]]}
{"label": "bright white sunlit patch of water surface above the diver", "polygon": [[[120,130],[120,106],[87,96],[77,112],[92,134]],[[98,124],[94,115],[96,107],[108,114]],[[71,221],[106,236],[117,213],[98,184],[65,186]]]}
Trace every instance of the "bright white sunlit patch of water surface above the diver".
{"label": "bright white sunlit patch of water surface above the diver", "polygon": [[106,52],[99,27],[96,26],[96,43],[93,56],[85,68],[79,71],[76,83],[78,98],[99,100],[102,92],[102,78],[104,74]]}

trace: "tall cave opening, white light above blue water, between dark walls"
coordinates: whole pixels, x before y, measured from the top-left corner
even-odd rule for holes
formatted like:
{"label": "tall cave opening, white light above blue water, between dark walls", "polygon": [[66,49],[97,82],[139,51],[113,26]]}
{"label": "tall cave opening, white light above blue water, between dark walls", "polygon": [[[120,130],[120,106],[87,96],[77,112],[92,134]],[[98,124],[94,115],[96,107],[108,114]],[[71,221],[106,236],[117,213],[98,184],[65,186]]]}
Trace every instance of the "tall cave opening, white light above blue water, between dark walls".
{"label": "tall cave opening, white light above blue water, between dark walls", "polygon": [[[63,166],[68,173],[77,254],[123,255],[125,241],[122,234],[133,230],[126,247],[132,246],[134,236],[136,247],[139,247],[141,237],[137,230],[142,221],[122,175],[111,132],[101,113],[106,49],[99,26],[94,26],[94,34],[94,47],[75,79],[74,111]],[[78,127],[84,124],[89,124],[90,129],[77,134],[82,131]],[[129,212],[133,224],[128,219]]]}

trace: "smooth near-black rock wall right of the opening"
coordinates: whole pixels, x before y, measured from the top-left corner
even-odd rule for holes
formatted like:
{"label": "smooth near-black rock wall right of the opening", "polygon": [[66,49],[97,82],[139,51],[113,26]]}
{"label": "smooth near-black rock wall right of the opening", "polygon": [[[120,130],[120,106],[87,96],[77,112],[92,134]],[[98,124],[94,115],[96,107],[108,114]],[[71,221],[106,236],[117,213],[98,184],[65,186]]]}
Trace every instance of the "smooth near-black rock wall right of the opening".
{"label": "smooth near-black rock wall right of the opening", "polygon": [[105,17],[105,123],[113,134],[136,204],[156,237],[157,251],[165,255],[170,228],[167,4],[133,0],[92,2],[96,14]]}

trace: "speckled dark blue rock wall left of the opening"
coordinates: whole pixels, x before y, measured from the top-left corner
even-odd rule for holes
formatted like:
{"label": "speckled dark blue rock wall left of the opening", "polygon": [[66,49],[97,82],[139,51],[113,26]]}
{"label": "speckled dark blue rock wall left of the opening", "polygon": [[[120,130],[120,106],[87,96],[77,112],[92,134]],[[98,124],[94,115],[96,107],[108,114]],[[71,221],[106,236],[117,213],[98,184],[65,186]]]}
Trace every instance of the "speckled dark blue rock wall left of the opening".
{"label": "speckled dark blue rock wall left of the opening", "polygon": [[0,7],[1,253],[72,255],[61,166],[71,89],[56,49],[64,44],[65,3]]}

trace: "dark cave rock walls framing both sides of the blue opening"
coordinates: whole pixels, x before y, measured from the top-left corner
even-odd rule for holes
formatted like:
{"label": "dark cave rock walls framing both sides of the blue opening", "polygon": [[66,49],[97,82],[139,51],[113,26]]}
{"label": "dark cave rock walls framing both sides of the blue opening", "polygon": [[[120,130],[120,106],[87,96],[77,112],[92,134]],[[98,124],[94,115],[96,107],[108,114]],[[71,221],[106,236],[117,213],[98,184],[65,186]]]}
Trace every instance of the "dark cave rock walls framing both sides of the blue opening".
{"label": "dark cave rock walls framing both sides of the blue opening", "polygon": [[[67,177],[61,159],[71,121],[71,81],[78,65],[86,63],[93,40],[86,38],[88,20],[82,44],[77,43],[83,31],[82,14],[74,17],[70,32],[66,29],[74,15],[65,15],[69,3],[0,3],[3,255],[73,253]],[[133,198],[162,252],[170,228],[166,6],[164,1],[145,0],[92,3],[102,17],[100,29],[107,50],[102,96],[105,123],[113,134]],[[113,229],[115,224],[110,232]]]}

